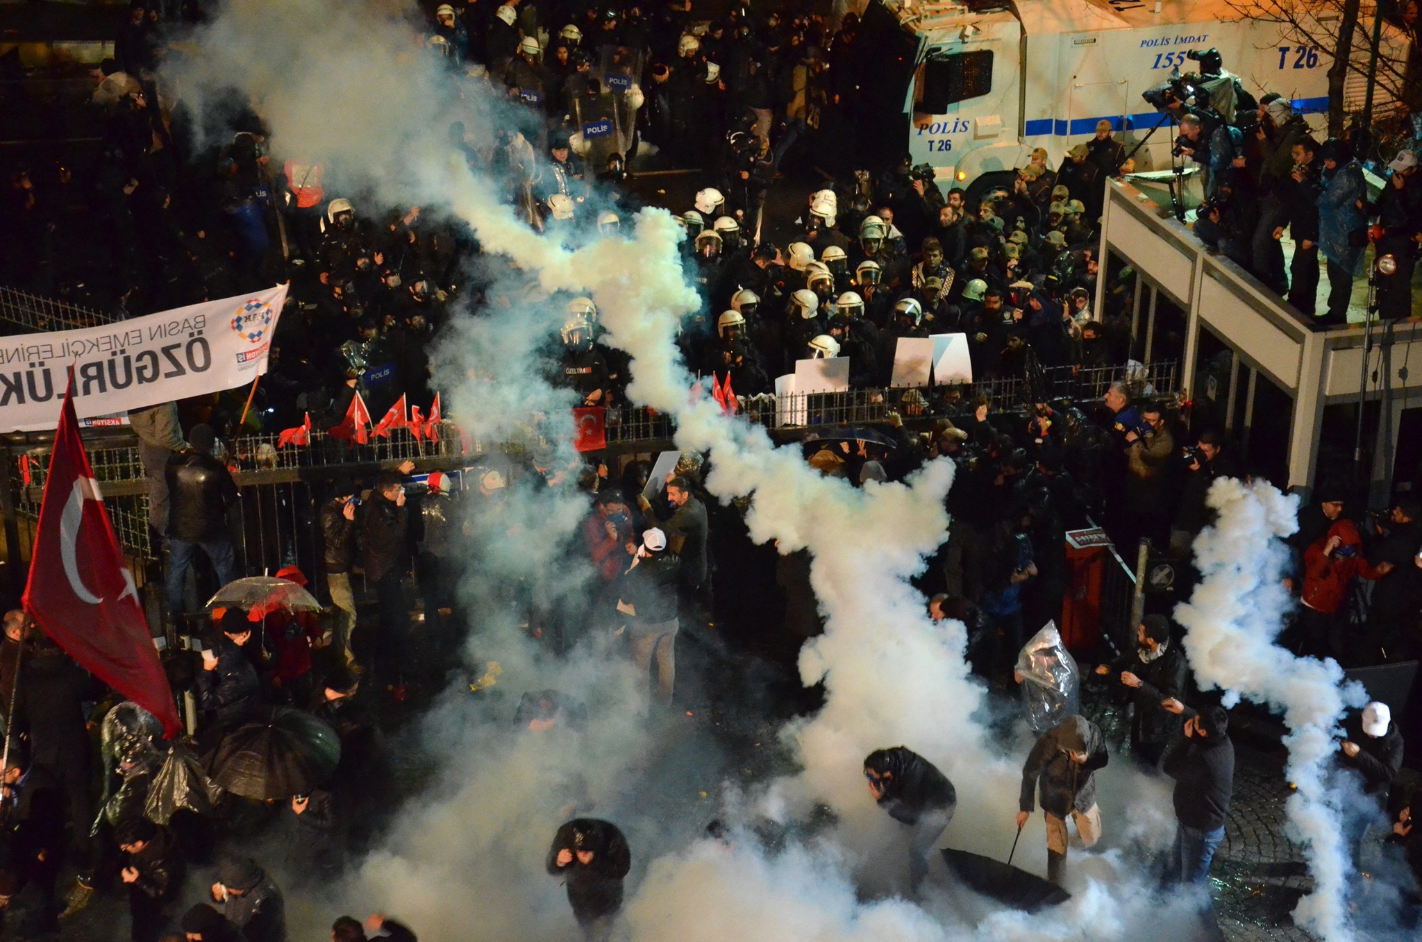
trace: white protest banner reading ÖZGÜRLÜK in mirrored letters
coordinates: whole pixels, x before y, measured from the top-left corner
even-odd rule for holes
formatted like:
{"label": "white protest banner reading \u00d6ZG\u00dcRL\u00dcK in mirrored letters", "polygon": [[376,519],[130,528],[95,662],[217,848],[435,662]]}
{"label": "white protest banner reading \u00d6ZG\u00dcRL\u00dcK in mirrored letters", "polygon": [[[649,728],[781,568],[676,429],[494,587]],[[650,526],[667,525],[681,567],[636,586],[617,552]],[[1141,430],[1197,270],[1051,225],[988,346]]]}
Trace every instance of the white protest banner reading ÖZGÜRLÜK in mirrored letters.
{"label": "white protest banner reading \u00d6ZG\u00dcRL\u00dcK in mirrored letters", "polygon": [[81,419],[252,382],[266,372],[286,288],[100,327],[0,337],[0,432],[55,428],[70,371]]}

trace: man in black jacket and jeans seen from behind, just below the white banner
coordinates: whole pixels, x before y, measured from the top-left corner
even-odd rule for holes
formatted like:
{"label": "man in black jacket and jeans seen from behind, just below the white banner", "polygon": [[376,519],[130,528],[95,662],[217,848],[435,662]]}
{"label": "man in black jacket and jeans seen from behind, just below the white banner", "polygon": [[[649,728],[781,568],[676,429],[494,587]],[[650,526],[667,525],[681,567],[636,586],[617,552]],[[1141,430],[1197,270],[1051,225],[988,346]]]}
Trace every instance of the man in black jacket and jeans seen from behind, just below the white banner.
{"label": "man in black jacket and jeans seen from behind, just below the white banner", "polygon": [[[183,578],[193,556],[202,548],[218,570],[218,583],[237,578],[237,553],[228,533],[228,507],[237,497],[232,472],[212,456],[216,433],[208,425],[195,425],[188,433],[188,448],[168,459],[168,571],[165,592],[168,611],[182,614]],[[220,588],[219,585],[219,588]]]}

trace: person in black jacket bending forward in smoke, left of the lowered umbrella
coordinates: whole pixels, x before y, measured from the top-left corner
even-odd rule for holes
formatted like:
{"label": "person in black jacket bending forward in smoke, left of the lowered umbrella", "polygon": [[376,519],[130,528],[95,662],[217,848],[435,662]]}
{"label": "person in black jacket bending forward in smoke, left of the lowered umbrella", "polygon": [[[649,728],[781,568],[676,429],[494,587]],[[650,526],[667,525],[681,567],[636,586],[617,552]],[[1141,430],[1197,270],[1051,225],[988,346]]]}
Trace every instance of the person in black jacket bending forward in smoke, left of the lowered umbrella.
{"label": "person in black jacket bending forward in smoke, left of the lowered umbrella", "polygon": [[877,749],[865,757],[865,779],[894,821],[913,828],[909,882],[914,892],[929,872],[929,854],[958,806],[957,791],[937,766],[904,746]]}

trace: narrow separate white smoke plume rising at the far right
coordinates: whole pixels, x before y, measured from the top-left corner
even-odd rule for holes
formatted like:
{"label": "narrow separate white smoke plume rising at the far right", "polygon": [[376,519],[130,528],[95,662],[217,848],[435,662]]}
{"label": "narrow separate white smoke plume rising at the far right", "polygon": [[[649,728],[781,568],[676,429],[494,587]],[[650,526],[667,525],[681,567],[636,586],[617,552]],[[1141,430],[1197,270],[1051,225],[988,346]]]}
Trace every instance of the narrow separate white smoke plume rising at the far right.
{"label": "narrow separate white smoke plume rising at the far right", "polygon": [[1194,541],[1200,583],[1175,610],[1186,629],[1185,652],[1203,689],[1219,688],[1226,706],[1240,698],[1277,709],[1288,726],[1287,804],[1290,837],[1305,848],[1315,889],[1294,919],[1328,942],[1354,938],[1348,916],[1352,872],[1340,794],[1328,773],[1337,753],[1334,729],[1365,695],[1344,683],[1335,661],[1300,658],[1276,644],[1293,601],[1283,585],[1283,538],[1297,529],[1298,497],[1257,480],[1216,480],[1209,506],[1219,513]]}

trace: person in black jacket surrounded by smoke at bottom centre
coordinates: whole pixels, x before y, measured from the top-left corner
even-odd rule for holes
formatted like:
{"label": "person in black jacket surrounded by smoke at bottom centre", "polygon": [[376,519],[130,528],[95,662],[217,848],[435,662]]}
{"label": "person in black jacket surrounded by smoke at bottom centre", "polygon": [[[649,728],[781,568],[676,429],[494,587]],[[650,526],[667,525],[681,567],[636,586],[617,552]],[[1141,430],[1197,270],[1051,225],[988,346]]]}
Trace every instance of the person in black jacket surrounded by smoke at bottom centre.
{"label": "person in black jacket surrounded by smoke at bottom centre", "polygon": [[623,878],[631,870],[627,838],[611,821],[573,818],[557,828],[547,872],[563,875],[567,902],[589,942],[604,942],[621,909]]}

